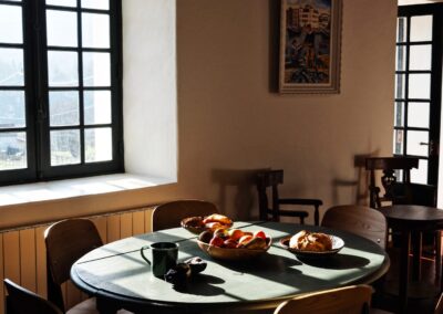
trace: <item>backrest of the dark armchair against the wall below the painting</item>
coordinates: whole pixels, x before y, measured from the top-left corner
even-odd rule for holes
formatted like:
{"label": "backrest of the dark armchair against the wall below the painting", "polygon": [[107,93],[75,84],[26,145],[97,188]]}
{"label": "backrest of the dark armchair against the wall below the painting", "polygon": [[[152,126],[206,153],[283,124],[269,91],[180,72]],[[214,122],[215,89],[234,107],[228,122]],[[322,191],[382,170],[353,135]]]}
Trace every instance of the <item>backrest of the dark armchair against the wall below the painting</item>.
{"label": "backrest of the dark armchair against the wall below the painting", "polygon": [[[278,219],[279,195],[278,186],[284,182],[284,170],[266,170],[257,174],[258,209],[260,220],[268,220],[269,210],[272,212],[272,219]],[[268,188],[270,189],[271,202],[268,199]]]}

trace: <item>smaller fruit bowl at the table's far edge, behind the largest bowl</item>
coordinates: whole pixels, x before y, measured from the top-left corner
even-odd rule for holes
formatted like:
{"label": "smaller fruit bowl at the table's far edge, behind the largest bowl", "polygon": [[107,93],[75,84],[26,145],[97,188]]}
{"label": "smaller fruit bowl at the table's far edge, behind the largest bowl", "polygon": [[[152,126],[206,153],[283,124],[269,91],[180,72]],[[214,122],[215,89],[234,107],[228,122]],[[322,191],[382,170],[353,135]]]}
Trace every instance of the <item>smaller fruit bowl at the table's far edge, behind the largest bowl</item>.
{"label": "smaller fruit bowl at the table's far edge, behind the largest bowl", "polygon": [[203,231],[228,229],[233,227],[233,220],[220,213],[206,217],[188,217],[181,221],[181,226],[192,233],[199,234]]}

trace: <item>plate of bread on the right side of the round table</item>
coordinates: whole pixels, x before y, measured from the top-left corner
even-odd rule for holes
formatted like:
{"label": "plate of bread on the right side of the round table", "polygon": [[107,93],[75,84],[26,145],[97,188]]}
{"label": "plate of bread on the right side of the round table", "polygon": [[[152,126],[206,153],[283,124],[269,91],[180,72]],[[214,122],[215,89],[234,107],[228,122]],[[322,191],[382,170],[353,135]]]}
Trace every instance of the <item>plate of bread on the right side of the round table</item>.
{"label": "plate of bread on the right side of the round table", "polygon": [[344,247],[344,241],[322,232],[300,232],[280,240],[280,245],[299,257],[330,257]]}

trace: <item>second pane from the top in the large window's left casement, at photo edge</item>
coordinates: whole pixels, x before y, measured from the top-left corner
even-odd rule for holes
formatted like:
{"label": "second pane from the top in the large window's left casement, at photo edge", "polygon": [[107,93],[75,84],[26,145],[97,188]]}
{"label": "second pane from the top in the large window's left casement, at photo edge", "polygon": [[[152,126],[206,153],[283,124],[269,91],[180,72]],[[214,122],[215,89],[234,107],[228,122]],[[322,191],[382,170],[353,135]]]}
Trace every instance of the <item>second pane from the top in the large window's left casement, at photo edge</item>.
{"label": "second pane from the top in the large window's left casement, at photo edge", "polygon": [[23,50],[0,48],[0,86],[23,86]]}

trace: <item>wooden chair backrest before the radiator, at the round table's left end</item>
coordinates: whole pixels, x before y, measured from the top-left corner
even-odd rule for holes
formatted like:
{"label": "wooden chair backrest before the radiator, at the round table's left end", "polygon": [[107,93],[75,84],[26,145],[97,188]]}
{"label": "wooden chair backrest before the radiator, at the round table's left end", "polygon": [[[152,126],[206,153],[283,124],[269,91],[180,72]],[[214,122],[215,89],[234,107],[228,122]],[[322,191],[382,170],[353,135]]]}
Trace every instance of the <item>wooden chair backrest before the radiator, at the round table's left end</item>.
{"label": "wooden chair backrest before the radiator, at the round table's left end", "polygon": [[44,232],[47,244],[48,299],[64,311],[61,284],[70,279],[72,264],[103,245],[95,224],[87,219],[68,219]]}

